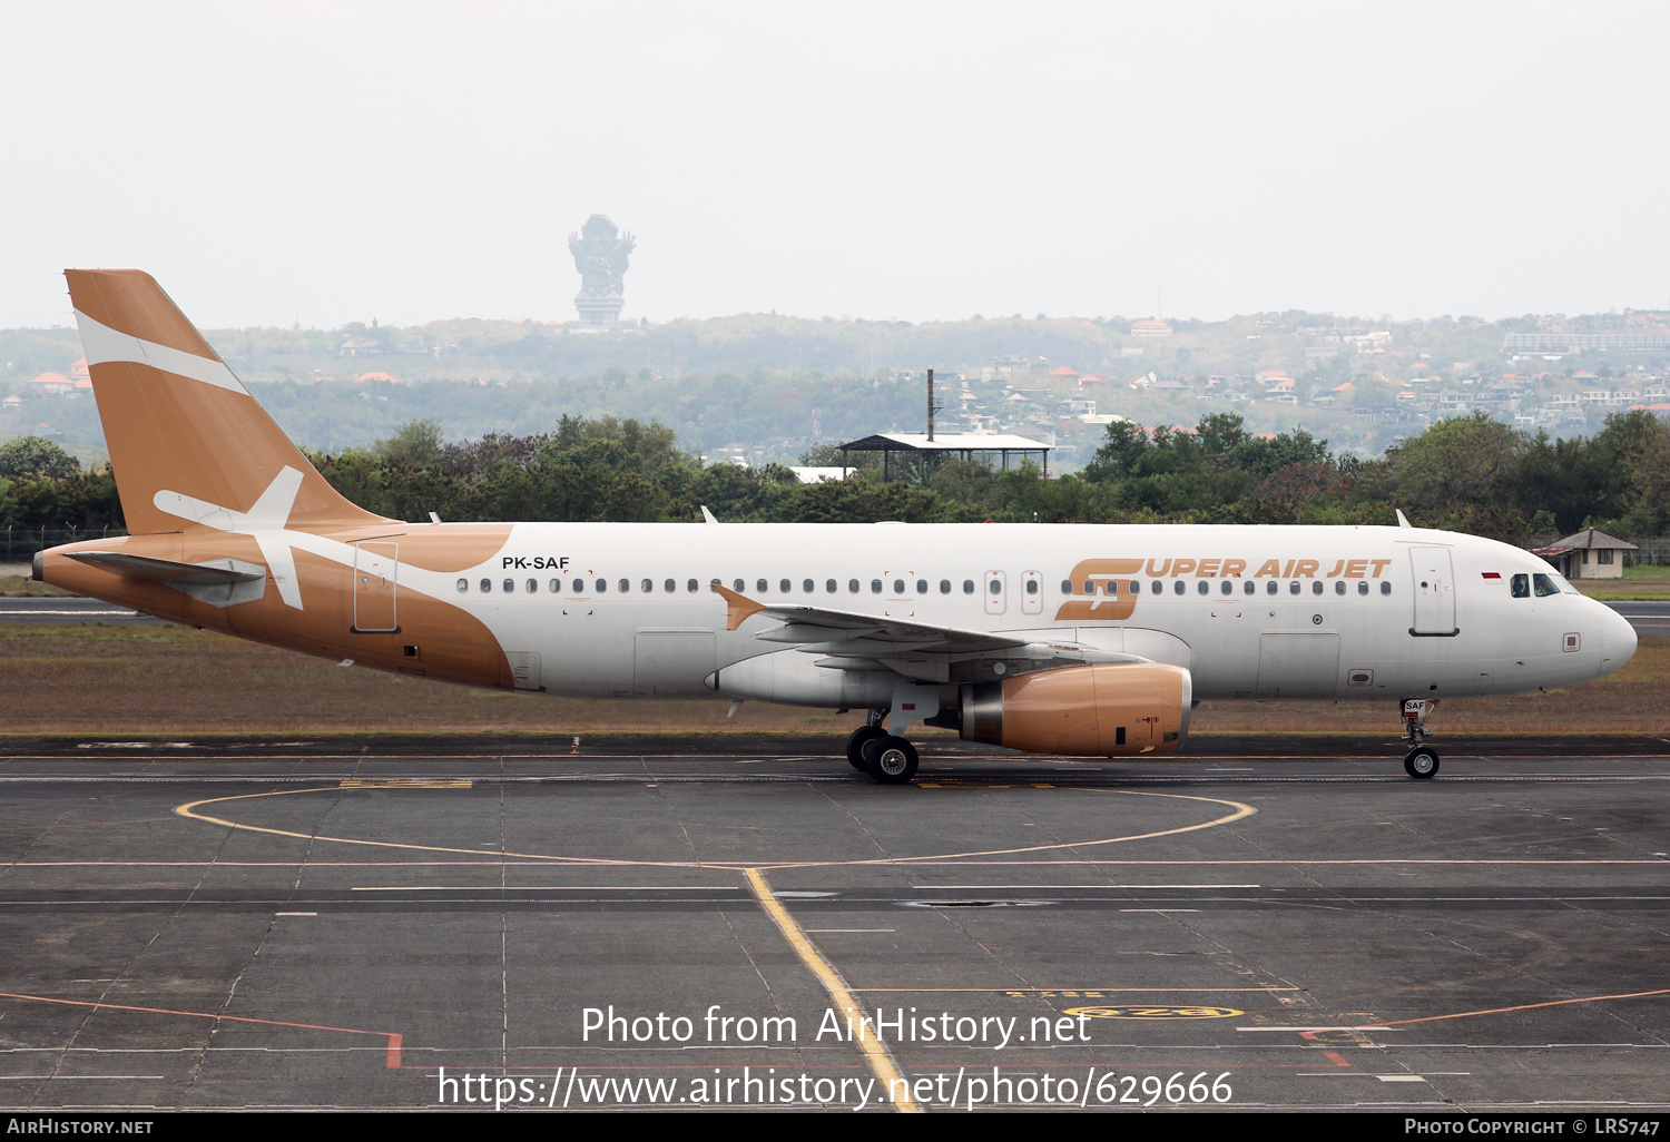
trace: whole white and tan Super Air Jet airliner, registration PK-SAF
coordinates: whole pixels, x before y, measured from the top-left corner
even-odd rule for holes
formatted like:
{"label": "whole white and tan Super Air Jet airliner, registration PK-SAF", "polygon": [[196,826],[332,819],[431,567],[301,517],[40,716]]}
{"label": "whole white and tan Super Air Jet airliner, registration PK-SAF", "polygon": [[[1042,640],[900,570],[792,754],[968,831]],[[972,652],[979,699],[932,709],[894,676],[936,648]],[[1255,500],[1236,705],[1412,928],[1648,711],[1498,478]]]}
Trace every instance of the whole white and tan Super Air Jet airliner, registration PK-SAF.
{"label": "whole white and tan Super Air Jet airliner, registration PK-SAF", "polygon": [[[1399,526],[404,523],[307,462],[157,282],[65,270],[129,536],[33,578],[174,623],[471,686],[868,710],[848,763],[915,776],[917,723],[1059,756],[1177,751],[1214,700],[1438,701],[1573,686],[1635,631],[1518,548]],[[733,706],[735,711],[735,706]]]}

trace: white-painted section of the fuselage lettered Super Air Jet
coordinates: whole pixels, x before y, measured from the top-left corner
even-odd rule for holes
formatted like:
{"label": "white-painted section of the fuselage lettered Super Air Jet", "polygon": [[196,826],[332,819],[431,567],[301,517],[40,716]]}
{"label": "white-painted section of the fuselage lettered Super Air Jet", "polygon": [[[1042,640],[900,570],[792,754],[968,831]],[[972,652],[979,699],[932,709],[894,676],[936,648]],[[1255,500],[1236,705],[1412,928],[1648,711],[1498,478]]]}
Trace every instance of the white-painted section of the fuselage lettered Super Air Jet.
{"label": "white-painted section of the fuselage lettered Super Air Jet", "polygon": [[[1515,576],[1556,588],[1515,598]],[[716,670],[785,649],[757,638],[767,619],[726,629],[715,581],[773,606],[1172,661],[1196,700],[1511,695],[1635,651],[1628,623],[1543,559],[1416,528],[516,524],[469,571],[399,568],[401,588],[481,619],[529,688],[600,698],[721,696]]]}

